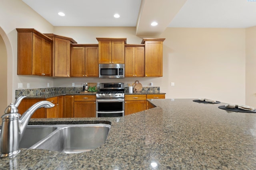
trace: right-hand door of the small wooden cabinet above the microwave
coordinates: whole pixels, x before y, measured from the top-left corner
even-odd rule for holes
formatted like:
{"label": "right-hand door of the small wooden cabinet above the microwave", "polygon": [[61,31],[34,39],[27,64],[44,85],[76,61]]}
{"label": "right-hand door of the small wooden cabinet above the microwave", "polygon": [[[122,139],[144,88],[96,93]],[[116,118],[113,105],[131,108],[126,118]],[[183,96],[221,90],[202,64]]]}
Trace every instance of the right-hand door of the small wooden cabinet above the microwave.
{"label": "right-hand door of the small wooden cabinet above the microwave", "polygon": [[124,41],[112,41],[111,63],[124,64]]}

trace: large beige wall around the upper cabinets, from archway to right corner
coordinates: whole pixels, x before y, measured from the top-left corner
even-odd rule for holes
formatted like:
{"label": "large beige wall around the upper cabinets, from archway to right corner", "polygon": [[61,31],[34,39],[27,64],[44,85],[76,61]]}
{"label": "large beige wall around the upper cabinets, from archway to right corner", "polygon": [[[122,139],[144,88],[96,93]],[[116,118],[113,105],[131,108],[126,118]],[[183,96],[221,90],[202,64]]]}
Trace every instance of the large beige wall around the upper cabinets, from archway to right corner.
{"label": "large beige wall around the upper cabinets, from archway to right corner", "polygon": [[[8,16],[8,17],[6,17]],[[78,43],[98,43],[96,37],[126,37],[129,44],[140,44],[135,27],[54,27],[21,0],[1,0],[0,27],[10,45],[8,55],[8,82],[14,100],[18,82],[24,88],[82,87],[84,82],[124,82],[140,80],[143,86],[160,86],[166,98],[211,98],[221,102],[245,104],[245,62],[248,57],[247,29],[167,28],[160,38],[164,41],[163,77],[160,78],[47,78],[17,76],[17,27],[35,28],[42,33],[72,37]],[[0,32],[1,33],[1,32]],[[245,42],[246,41],[246,42]],[[248,80],[247,78],[247,80]],[[170,86],[175,82],[175,86]],[[10,101],[8,101],[9,103]]]}

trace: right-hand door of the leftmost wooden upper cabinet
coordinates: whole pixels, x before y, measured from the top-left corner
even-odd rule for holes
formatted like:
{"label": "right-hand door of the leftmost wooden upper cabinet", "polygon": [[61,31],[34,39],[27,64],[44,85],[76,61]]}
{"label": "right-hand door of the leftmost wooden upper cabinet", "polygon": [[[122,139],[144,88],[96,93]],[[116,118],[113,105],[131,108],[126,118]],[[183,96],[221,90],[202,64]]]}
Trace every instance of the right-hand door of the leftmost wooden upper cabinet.
{"label": "right-hand door of the leftmost wooden upper cabinet", "polygon": [[44,40],[42,46],[42,73],[44,76],[52,76],[52,43]]}

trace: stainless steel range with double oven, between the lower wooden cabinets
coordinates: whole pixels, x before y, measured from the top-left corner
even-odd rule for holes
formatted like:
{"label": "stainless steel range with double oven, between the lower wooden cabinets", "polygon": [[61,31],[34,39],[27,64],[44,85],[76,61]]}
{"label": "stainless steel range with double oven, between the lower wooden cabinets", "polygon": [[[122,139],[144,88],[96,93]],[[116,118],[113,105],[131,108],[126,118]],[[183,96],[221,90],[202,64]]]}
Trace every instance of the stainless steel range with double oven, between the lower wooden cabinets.
{"label": "stainless steel range with double oven, between the lower wooden cabinets", "polygon": [[96,117],[124,116],[124,83],[100,83],[96,93]]}

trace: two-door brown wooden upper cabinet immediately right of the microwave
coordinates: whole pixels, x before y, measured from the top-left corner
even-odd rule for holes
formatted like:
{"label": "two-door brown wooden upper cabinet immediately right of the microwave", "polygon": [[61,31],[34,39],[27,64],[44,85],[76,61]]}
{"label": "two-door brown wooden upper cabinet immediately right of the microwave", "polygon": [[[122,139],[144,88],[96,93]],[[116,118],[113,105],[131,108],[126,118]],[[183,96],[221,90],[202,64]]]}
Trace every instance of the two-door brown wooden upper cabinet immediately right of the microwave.
{"label": "two-door brown wooden upper cabinet immediately right of the microwave", "polygon": [[144,77],[145,76],[145,55],[144,44],[125,45],[125,73],[126,77]]}

